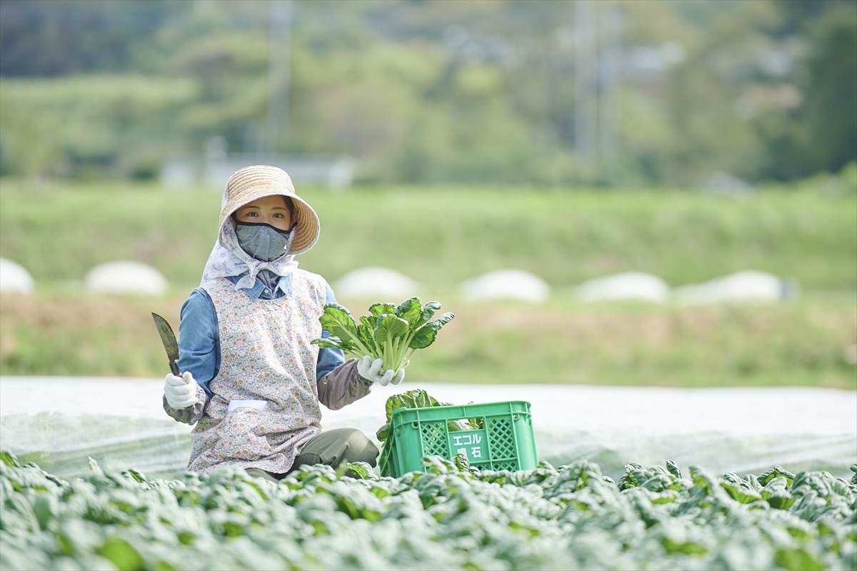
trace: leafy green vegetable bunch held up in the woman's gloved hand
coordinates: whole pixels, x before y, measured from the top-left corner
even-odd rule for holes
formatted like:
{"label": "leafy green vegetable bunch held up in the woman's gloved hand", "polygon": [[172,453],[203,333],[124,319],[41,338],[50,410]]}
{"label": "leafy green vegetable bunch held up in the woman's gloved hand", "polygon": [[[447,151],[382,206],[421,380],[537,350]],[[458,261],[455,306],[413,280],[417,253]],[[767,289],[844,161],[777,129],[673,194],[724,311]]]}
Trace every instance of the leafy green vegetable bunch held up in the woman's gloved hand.
{"label": "leafy green vegetable bunch held up in the woman's gloved hand", "polygon": [[380,358],[382,370],[400,370],[411,362],[411,353],[434,343],[440,328],[452,321],[452,313],[432,320],[437,310],[439,303],[421,305],[420,298],[406,299],[399,307],[372,304],[369,315],[362,316],[357,324],[349,310],[339,304],[327,304],[320,321],[330,337],[312,343],[341,349],[351,357]]}

